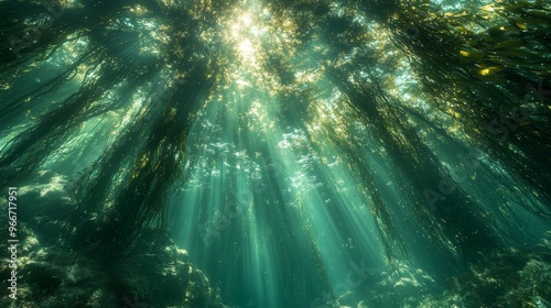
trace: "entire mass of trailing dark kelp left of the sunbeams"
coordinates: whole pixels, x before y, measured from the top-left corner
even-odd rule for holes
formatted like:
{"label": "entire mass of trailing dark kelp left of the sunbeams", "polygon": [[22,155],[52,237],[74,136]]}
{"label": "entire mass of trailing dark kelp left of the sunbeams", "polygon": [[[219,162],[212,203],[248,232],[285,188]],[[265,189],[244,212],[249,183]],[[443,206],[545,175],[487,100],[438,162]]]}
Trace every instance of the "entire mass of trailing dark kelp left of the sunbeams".
{"label": "entire mass of trailing dark kelp left of the sunbeams", "polygon": [[[121,129],[116,140],[105,147],[105,152],[96,162],[83,169],[83,176],[75,183],[75,189],[82,202],[75,213],[77,219],[83,219],[82,212],[84,211],[97,213],[106,210],[105,204],[97,200],[112,200],[116,205],[111,206],[111,210],[105,215],[108,215],[117,227],[106,224],[102,232],[107,233],[104,234],[105,237],[119,234],[118,240],[115,240],[112,244],[121,248],[128,246],[125,243],[130,243],[136,239],[142,224],[153,218],[158,219],[168,186],[174,180],[184,157],[186,125],[196,109],[194,106],[199,103],[204,94],[208,94],[210,81],[206,77],[207,69],[215,68],[208,68],[207,61],[197,59],[193,65],[174,67],[174,62],[182,65],[192,62],[194,57],[197,58],[194,50],[201,46],[196,45],[196,41],[194,42],[195,33],[186,31],[187,26],[193,28],[194,19],[185,19],[190,24],[172,30],[174,31],[172,33],[171,29],[166,29],[168,33],[164,35],[173,38],[170,40],[170,44],[166,42],[161,45],[158,42],[159,46],[155,47],[172,48],[174,53],[156,51],[155,55],[153,52],[144,53],[140,50],[145,44],[140,42],[140,36],[149,34],[144,33],[144,29],[137,29],[136,24],[132,24],[136,20],[130,22],[128,18],[130,14],[134,19],[136,15],[147,19],[152,13],[140,6],[109,2],[106,4],[109,8],[98,8],[97,3],[65,8],[62,3],[52,6],[35,3],[32,10],[25,11],[19,4],[11,1],[2,2],[2,6],[7,7],[6,12],[18,12],[3,19],[19,24],[19,29],[13,29],[14,33],[24,26],[21,23],[29,14],[32,16],[35,12],[48,12],[53,8],[52,10],[55,9],[58,13],[60,20],[52,21],[52,29],[47,31],[52,31],[52,35],[64,33],[66,38],[65,41],[58,38],[58,45],[43,40],[30,42],[23,52],[17,50],[15,46],[18,44],[15,40],[19,37],[11,35],[10,44],[4,44],[4,46],[11,46],[11,51],[3,53],[6,70],[13,74],[11,78],[21,77],[17,67],[10,68],[12,63],[26,66],[32,65],[32,62],[47,62],[57,53],[74,52],[72,47],[62,44],[85,40],[86,43],[83,45],[86,46],[78,51],[79,54],[75,56],[74,63],[54,75],[51,80],[29,92],[14,90],[13,94],[17,96],[12,96],[12,100],[6,100],[2,117],[8,123],[12,122],[13,127],[18,123],[17,120],[20,120],[19,117],[21,117],[21,110],[25,108],[25,102],[48,91],[56,91],[75,78],[75,75],[82,75],[82,77],[78,76],[79,85],[76,89],[72,89],[71,95],[64,101],[55,107],[43,108],[46,111],[42,111],[44,113],[35,120],[35,123],[17,134],[4,146],[2,183],[8,179],[14,182],[32,174],[48,156],[55,155],[60,148],[63,148],[67,140],[75,138],[74,132],[84,123],[90,119],[105,117],[109,111],[128,108],[136,92],[144,91],[148,103],[140,108],[131,124]],[[3,8],[2,12],[4,12]],[[105,12],[108,13],[105,14]],[[76,15],[79,18],[74,18]],[[90,22],[83,24],[83,20]],[[61,29],[53,29],[54,24]],[[21,30],[21,33],[25,33],[28,28]],[[44,34],[47,37],[52,35],[50,32],[47,35]],[[23,35],[22,40],[24,38]],[[171,66],[172,72],[166,73],[166,66]],[[163,74],[166,76],[162,76]],[[148,82],[153,82],[153,85],[148,85]],[[181,101],[182,97],[187,97],[187,99]],[[10,121],[10,118],[17,120]],[[7,125],[7,131],[9,129],[10,127]],[[148,133],[145,138],[144,130],[154,133]],[[137,146],[137,140],[145,139],[147,142]],[[111,199],[112,195],[117,197]],[[122,219],[122,217],[126,218]],[[107,248],[101,246],[102,250]],[[107,248],[105,251],[118,253],[125,249]]]}

